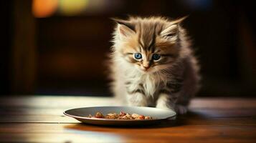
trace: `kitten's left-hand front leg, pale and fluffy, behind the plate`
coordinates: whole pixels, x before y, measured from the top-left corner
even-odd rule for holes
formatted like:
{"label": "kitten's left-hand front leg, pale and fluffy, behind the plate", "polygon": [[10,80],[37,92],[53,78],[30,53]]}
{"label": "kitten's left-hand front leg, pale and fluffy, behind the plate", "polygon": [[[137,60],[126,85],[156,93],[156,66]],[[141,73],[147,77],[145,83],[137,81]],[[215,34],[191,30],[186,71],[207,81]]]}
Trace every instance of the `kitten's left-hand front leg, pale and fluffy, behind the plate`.
{"label": "kitten's left-hand front leg, pale and fluffy, behind the plate", "polygon": [[136,107],[146,107],[148,106],[148,102],[146,96],[140,92],[135,92],[132,94],[126,95],[128,105],[136,106]]}

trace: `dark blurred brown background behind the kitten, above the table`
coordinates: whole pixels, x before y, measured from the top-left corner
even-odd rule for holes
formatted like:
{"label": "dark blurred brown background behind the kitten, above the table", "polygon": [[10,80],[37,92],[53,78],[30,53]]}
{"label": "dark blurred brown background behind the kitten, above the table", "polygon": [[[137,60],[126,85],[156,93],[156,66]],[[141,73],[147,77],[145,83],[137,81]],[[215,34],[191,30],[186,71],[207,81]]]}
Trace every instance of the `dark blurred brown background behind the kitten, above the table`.
{"label": "dark blurred brown background behind the kitten, above the table", "polygon": [[202,65],[199,97],[255,97],[253,1],[1,1],[0,94],[111,96],[110,17],[189,15]]}

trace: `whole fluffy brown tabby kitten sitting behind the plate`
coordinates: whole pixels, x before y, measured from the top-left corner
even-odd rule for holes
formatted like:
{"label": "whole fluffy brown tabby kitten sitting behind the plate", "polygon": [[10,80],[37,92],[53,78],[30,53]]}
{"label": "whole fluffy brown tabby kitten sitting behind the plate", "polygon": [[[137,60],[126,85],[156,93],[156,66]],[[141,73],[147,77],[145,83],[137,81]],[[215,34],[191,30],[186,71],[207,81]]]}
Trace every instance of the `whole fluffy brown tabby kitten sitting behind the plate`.
{"label": "whole fluffy brown tabby kitten sitting behind the plate", "polygon": [[199,66],[186,31],[185,18],[113,19],[110,74],[113,93],[130,106],[187,111],[199,89]]}

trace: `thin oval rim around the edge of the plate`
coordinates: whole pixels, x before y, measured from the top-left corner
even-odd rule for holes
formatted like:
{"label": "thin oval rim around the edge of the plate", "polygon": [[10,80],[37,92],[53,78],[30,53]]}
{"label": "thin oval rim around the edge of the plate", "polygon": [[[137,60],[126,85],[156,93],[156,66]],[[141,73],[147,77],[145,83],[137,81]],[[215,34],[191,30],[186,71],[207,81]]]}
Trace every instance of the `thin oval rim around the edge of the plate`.
{"label": "thin oval rim around the edge of the plate", "polygon": [[[102,106],[102,107],[128,107],[128,106]],[[82,108],[95,108],[95,107],[79,107],[79,108],[72,108],[72,109],[82,109]],[[140,108],[140,107],[138,107]],[[160,109],[160,108],[156,108],[156,107],[142,107],[142,108],[153,108],[153,109]],[[67,117],[73,117],[73,118],[77,118],[77,119],[88,119],[88,120],[93,120],[93,121],[114,121],[114,122],[150,122],[150,121],[159,121],[159,120],[164,120],[164,119],[171,119],[176,117],[177,113],[173,110],[168,110],[168,109],[161,109],[161,110],[166,110],[168,112],[173,112],[174,115],[172,115],[171,117],[167,117],[167,118],[161,118],[161,119],[105,119],[105,118],[90,118],[90,117],[78,117],[72,114],[67,114],[67,111],[70,111],[72,109],[67,109],[65,110],[65,112],[63,112],[63,114],[65,114]]]}

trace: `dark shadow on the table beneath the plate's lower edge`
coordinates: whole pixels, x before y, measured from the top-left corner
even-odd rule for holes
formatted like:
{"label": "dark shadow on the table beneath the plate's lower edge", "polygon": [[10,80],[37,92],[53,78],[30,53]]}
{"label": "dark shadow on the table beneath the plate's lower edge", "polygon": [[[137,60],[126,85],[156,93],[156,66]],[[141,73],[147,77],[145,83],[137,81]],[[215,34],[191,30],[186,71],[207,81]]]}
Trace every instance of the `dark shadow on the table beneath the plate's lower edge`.
{"label": "dark shadow on the table beneath the plate's lower edge", "polygon": [[188,112],[185,115],[179,115],[176,119],[164,120],[156,124],[141,124],[141,125],[123,125],[123,126],[110,126],[110,125],[95,125],[95,124],[69,124],[65,126],[67,129],[77,129],[77,130],[97,130],[98,128],[116,128],[116,129],[156,129],[156,128],[166,128],[166,127],[180,127],[187,124],[193,123],[195,120],[205,119],[204,114],[199,114],[196,112]]}

